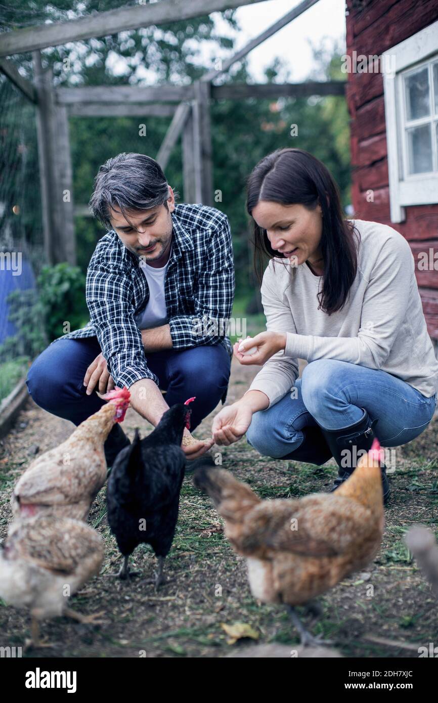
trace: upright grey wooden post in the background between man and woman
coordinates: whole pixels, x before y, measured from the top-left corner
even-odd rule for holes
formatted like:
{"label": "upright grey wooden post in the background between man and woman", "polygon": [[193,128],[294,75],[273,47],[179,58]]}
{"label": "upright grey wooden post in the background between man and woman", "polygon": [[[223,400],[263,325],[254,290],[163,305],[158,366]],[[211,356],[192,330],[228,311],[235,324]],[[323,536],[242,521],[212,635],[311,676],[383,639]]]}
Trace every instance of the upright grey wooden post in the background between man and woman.
{"label": "upright grey wooden post in the background between man and woman", "polygon": [[210,90],[208,82],[193,84],[193,135],[195,183],[198,183],[203,205],[213,205],[212,127],[210,121]]}

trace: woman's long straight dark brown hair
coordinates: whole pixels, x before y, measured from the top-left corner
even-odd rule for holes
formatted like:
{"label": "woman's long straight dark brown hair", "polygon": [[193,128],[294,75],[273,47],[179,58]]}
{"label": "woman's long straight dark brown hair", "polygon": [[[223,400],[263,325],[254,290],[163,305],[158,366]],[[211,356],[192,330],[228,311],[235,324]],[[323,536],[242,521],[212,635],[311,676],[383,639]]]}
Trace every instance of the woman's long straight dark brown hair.
{"label": "woman's long straight dark brown hair", "polygon": [[[324,277],[318,293],[319,307],[328,315],[340,310],[356,276],[357,250],[354,225],[344,219],[339,190],[328,169],[307,151],[278,149],[259,161],[248,179],[247,211],[251,216],[260,200],[282,205],[299,203],[309,210],[321,205]],[[286,257],[271,247],[266,230],[254,219],[253,231],[255,270],[261,283],[266,256]]]}

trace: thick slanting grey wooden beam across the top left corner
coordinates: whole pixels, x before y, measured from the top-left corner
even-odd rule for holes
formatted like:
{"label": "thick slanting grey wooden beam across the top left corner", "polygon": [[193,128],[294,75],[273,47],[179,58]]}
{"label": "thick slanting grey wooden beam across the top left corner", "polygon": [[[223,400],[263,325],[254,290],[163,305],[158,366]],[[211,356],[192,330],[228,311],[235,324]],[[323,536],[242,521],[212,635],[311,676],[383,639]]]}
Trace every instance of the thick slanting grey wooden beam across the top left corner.
{"label": "thick slanting grey wooden beam across the top left corner", "polygon": [[135,30],[138,27],[181,22],[263,1],[266,0],[161,0],[136,7],[124,6],[67,22],[53,22],[14,32],[3,32],[0,34],[0,56],[58,46],[67,44],[68,41],[108,37],[110,34]]}

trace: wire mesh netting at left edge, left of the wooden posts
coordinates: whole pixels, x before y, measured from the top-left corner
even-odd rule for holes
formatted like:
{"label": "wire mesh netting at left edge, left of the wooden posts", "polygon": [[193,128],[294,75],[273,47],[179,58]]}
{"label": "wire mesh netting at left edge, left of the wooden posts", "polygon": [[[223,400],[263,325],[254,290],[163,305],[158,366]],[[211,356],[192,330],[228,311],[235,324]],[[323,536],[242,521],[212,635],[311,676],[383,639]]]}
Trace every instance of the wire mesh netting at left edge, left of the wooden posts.
{"label": "wire mesh netting at left edge, left of the wooden posts", "polygon": [[[37,325],[30,310],[45,260],[36,108],[4,75],[0,105],[0,362],[6,362],[1,398],[11,373],[7,364],[34,351],[28,340]],[[30,333],[23,336],[25,325]]]}

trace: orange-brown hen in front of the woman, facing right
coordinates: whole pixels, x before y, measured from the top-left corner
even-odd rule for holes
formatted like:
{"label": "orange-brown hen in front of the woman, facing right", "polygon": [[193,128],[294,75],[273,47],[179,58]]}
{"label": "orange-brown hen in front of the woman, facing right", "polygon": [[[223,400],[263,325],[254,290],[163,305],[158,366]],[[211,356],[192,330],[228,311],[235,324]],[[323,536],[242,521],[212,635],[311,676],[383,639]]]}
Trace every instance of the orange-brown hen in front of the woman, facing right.
{"label": "orange-brown hen in front of the woman, facing right", "polygon": [[252,595],[288,605],[302,644],[320,645],[293,606],[363,569],[378,552],[384,526],[378,441],[335,493],[262,501],[230,472],[205,466],[194,480],[224,518],[233,548],[247,558]]}

